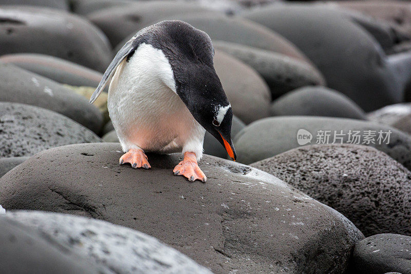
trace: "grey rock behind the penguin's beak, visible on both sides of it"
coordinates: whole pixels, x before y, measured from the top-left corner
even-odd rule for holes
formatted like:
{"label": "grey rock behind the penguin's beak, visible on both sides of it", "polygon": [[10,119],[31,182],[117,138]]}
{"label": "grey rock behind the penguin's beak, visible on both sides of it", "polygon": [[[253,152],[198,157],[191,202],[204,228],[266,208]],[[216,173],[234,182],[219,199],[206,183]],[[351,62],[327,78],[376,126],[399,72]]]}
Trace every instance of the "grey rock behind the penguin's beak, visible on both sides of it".
{"label": "grey rock behind the penguin's beak, visible on both sides of it", "polygon": [[[239,133],[246,124],[238,119],[236,116],[233,116],[232,124],[231,124],[231,136],[234,136]],[[204,135],[204,144],[203,144],[204,153],[220,158],[227,159],[228,154],[224,147],[221,145],[217,139],[211,135],[209,132],[206,132]]]}

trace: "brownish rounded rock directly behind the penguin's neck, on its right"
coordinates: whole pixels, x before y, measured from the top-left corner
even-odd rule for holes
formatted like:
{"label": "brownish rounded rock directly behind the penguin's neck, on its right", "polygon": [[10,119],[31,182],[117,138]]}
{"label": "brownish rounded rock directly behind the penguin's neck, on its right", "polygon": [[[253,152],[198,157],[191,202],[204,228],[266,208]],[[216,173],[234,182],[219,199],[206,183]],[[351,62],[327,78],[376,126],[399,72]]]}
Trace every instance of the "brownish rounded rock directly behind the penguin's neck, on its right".
{"label": "brownish rounded rock directly behind the penguin's neck, on its right", "polygon": [[241,121],[248,124],[270,115],[270,90],[253,68],[220,50],[215,51],[214,68]]}

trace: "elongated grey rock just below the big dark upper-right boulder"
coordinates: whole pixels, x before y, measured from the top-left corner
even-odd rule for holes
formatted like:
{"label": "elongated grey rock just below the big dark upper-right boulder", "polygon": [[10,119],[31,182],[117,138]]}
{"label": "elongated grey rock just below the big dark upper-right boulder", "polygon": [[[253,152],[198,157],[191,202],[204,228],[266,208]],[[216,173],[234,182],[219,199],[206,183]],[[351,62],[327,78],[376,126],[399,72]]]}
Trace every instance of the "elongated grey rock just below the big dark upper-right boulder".
{"label": "elongated grey rock just below the big dark upper-right boulder", "polygon": [[272,98],[298,87],[325,85],[316,68],[285,54],[225,41],[214,41],[213,45],[254,68],[266,80]]}

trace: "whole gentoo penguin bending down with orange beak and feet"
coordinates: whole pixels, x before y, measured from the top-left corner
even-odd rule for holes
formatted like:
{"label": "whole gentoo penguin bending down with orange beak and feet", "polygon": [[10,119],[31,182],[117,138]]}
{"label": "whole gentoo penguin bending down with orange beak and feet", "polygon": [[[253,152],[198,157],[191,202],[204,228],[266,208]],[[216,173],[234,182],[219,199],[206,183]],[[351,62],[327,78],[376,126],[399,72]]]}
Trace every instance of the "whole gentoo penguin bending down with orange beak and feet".
{"label": "whole gentoo penguin bending down with orange beak and feet", "polygon": [[209,35],[182,21],[140,30],[111,61],[90,103],[111,79],[108,111],[125,154],[120,165],[150,168],[145,152],[181,152],[175,175],[205,182],[198,167],[210,132],[235,161],[233,112],[213,65]]}

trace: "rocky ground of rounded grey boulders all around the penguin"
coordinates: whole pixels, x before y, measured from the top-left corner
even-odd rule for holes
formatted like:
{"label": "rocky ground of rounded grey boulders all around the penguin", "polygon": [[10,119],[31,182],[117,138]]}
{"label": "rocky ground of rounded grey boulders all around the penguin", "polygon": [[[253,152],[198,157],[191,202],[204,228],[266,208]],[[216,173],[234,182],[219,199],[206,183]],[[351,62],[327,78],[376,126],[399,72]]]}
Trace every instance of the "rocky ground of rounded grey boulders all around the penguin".
{"label": "rocky ground of rounded grey boulders all around the penguin", "polygon": [[[0,0],[0,273],[411,274],[411,3]],[[117,50],[206,31],[237,161],[209,133],[118,164]]]}

